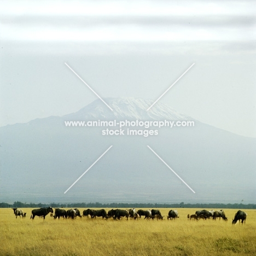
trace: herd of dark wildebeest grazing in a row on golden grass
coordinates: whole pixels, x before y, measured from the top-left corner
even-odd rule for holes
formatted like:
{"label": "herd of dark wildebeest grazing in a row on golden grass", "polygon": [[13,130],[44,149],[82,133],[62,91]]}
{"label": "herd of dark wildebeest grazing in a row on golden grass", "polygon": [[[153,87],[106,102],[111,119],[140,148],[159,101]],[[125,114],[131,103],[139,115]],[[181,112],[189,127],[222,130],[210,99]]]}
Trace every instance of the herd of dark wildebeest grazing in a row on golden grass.
{"label": "herd of dark wildebeest grazing in a row on golden grass", "polygon": [[[21,209],[18,208],[12,208],[14,211],[14,214],[16,216],[16,218],[18,216],[20,217],[26,217],[26,212],[24,212]],[[60,219],[61,217],[63,219],[67,219],[67,218],[71,218],[71,219],[75,219],[77,217],[82,218],[82,215],[80,214],[80,211],[78,210],[78,208],[74,208],[74,209],[69,209],[69,210],[65,210],[63,208],[55,208],[55,213],[53,211],[53,208],[51,207],[44,207],[44,208],[39,208],[39,209],[34,209],[31,212],[31,219],[34,219],[35,216],[39,216],[45,219],[45,216],[50,213],[50,216],[53,217],[54,219]],[[54,213],[54,214],[53,214]],[[119,219],[120,218],[126,218],[127,220],[130,219],[134,219],[134,220],[138,220],[141,219],[142,216],[144,217],[144,219],[164,219],[164,216],[162,216],[160,210],[138,210],[136,211],[135,208],[131,208],[130,210],[121,210],[121,209],[112,209],[109,210],[108,212],[106,212],[106,210],[101,209],[101,210],[91,210],[91,209],[87,209],[83,211],[83,217],[91,217],[92,219],[96,219],[96,217],[102,217],[102,219],[108,219],[108,218],[113,218],[113,219]],[[235,214],[234,219],[232,219],[232,224],[236,224],[237,220],[240,223],[240,220],[243,224],[243,222],[246,222],[246,217],[247,217],[247,213],[243,212],[243,211],[237,211],[237,213]],[[176,219],[179,218],[179,214],[177,210],[170,210],[168,212],[168,216],[167,219]],[[223,210],[219,210],[219,211],[207,211],[207,210],[199,210],[196,211],[195,214],[188,214],[187,216],[188,220],[200,220],[200,219],[214,219],[216,220],[217,218],[222,218],[223,220],[228,220],[228,218],[225,216],[225,212]]]}

